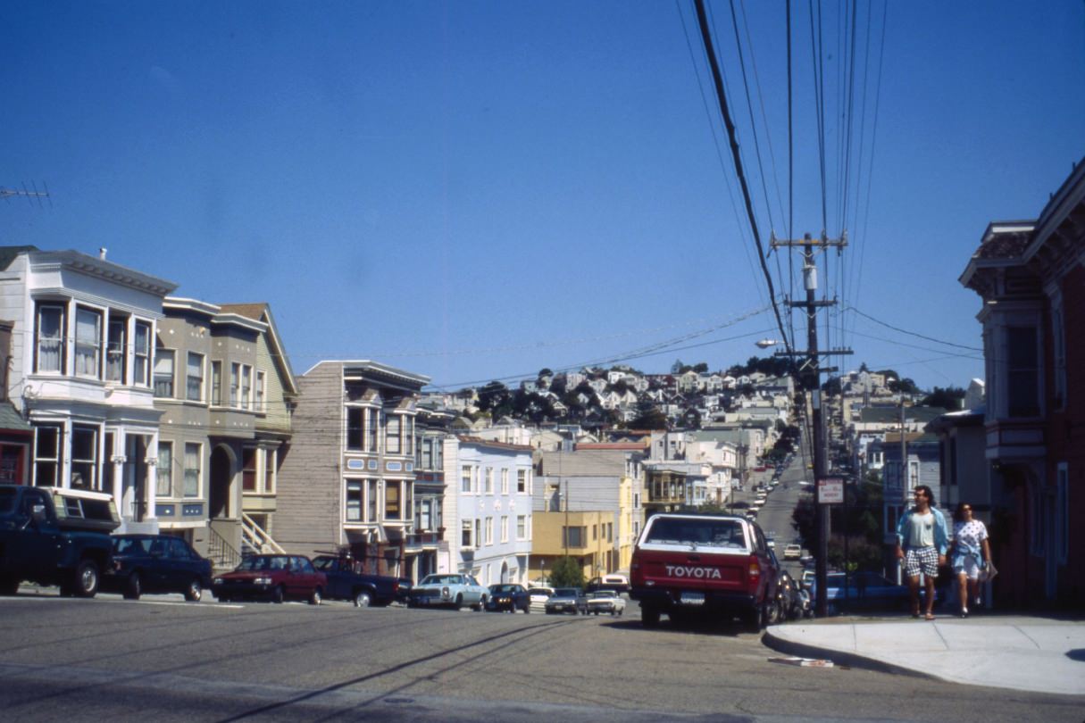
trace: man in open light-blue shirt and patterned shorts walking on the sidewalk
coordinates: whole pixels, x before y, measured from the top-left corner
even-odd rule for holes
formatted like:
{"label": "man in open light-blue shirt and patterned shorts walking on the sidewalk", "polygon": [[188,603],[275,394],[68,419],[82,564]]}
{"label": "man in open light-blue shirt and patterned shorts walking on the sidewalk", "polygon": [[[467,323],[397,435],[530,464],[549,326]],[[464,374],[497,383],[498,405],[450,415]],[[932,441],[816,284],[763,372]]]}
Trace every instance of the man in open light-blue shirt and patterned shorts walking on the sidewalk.
{"label": "man in open light-blue shirt and patterned shorts walking on the sidewalk", "polygon": [[896,526],[896,557],[904,560],[911,596],[911,617],[919,617],[919,573],[926,578],[927,619],[934,619],[934,579],[939,566],[946,564],[949,538],[946,519],[932,506],[931,488],[920,485],[915,490],[916,505],[906,512]]}

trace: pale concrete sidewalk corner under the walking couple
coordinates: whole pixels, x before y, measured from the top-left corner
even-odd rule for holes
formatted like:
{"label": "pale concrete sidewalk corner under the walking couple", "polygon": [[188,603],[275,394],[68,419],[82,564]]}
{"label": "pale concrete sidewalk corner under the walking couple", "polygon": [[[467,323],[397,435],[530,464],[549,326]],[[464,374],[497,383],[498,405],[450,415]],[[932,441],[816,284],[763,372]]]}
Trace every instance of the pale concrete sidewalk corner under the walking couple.
{"label": "pale concrete sidewalk corner under the walking couple", "polygon": [[826,618],[773,625],[769,647],[856,668],[967,685],[1085,696],[1085,621],[987,614],[967,619]]}

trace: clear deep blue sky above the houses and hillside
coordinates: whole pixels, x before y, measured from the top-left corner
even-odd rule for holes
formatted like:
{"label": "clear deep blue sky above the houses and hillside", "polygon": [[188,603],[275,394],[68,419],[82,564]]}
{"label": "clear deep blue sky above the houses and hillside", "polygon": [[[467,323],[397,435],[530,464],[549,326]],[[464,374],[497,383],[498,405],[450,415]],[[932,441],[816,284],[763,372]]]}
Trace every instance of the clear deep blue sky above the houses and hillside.
{"label": "clear deep blue sky above the houses and hillside", "polygon": [[[709,2],[763,241],[846,230],[830,363],[967,386],[958,276],[1085,157],[1085,3],[859,2],[853,51],[822,2],[822,103],[793,4],[789,229],[786,5]],[[726,369],[780,334],[710,82],[688,0],[7,2],[0,186],[51,207],[0,203],[0,244],[267,301],[298,374]],[[795,253],[768,264],[804,297]]]}

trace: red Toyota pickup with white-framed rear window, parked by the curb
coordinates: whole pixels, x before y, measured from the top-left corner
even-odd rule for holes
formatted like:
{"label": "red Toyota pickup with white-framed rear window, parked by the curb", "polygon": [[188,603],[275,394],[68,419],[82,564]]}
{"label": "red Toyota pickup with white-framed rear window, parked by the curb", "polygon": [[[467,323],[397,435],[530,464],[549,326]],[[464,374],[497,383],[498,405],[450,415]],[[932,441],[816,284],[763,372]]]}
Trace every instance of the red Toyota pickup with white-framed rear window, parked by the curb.
{"label": "red Toyota pickup with white-framed rear window, parked by the curb", "polygon": [[660,615],[739,617],[751,632],[779,619],[780,565],[756,522],[732,515],[650,517],[633,552],[629,597],[644,628]]}

